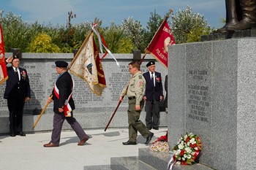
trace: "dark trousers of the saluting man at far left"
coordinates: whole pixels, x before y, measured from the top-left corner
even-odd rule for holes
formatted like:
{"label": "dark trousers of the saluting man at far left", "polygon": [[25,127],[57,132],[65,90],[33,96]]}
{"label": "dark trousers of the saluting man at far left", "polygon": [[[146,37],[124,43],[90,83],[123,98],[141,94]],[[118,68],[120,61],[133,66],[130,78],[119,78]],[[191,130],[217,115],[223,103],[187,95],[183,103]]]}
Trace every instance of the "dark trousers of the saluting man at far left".
{"label": "dark trousers of the saluting man at far left", "polygon": [[23,131],[23,108],[25,100],[21,101],[18,96],[8,98],[10,132],[18,133]]}

